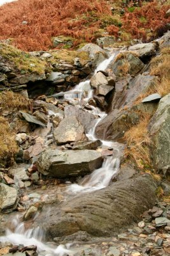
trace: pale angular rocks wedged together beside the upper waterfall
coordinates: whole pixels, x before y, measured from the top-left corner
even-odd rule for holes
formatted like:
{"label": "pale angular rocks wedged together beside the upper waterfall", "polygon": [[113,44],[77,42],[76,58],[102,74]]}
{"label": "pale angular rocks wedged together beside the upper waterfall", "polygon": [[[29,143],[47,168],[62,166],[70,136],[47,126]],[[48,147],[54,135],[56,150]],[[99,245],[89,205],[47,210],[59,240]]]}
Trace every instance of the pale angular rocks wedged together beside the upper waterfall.
{"label": "pale angular rocks wedged together beside the upper waterfall", "polygon": [[113,77],[104,76],[103,72],[97,72],[90,79],[90,85],[96,89],[96,95],[106,96],[115,87],[115,80]]}

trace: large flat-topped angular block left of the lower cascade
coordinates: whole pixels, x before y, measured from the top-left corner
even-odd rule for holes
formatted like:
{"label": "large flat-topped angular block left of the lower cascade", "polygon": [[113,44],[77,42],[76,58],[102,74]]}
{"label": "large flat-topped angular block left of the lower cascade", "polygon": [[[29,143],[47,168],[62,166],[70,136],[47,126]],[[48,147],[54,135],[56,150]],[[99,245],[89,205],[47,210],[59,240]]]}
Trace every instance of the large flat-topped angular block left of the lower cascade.
{"label": "large flat-topped angular block left of the lower cascade", "polygon": [[38,158],[38,171],[57,178],[78,177],[101,167],[103,157],[95,150],[46,150]]}

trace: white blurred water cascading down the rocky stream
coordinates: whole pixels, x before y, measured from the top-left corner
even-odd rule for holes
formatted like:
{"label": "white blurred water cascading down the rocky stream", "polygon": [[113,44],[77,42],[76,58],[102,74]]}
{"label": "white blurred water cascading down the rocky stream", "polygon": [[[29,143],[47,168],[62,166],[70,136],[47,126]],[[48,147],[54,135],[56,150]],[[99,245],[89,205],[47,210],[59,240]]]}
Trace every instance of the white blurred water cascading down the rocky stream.
{"label": "white blurred water cascading down the rocky stream", "polygon": [[[117,52],[112,54],[109,59],[104,60],[94,71],[96,74],[99,70],[106,70],[111,61],[114,60]],[[64,93],[64,98],[70,101],[74,101],[74,98],[77,98],[80,102],[81,98],[83,100],[89,100],[93,95],[93,90],[90,86],[90,80],[84,81],[76,85],[74,90]],[[92,106],[91,106],[92,107]],[[95,130],[97,124],[106,116],[106,113],[101,112],[100,109],[92,107],[90,111],[94,115],[99,116],[96,120],[96,124],[92,129],[90,129],[89,133],[86,134],[89,140],[95,141],[97,140],[95,135]],[[54,113],[49,112],[48,115],[55,115]],[[57,114],[59,115],[59,114]],[[120,155],[122,152],[122,145],[119,143],[115,143],[113,141],[101,141],[103,143],[103,147],[111,147],[114,149],[114,156],[108,156],[104,159],[103,166],[90,175],[84,177],[81,180],[80,184],[71,184],[66,192],[70,195],[75,195],[76,193],[89,193],[92,191],[96,191],[97,189],[102,189],[108,186],[111,182],[111,179],[118,172],[119,164],[120,164]],[[38,248],[38,253],[41,255],[43,252],[44,255],[74,255],[77,253],[80,248],[70,248],[71,244],[54,246],[53,244],[45,244],[43,243],[43,239],[45,238],[45,234],[43,230],[39,227],[25,229],[25,224],[20,223],[19,218],[17,217],[13,221],[14,231],[7,230],[6,236],[0,237],[0,241],[5,242],[9,241],[12,244],[24,244],[24,246],[30,246],[32,244],[36,245]]]}

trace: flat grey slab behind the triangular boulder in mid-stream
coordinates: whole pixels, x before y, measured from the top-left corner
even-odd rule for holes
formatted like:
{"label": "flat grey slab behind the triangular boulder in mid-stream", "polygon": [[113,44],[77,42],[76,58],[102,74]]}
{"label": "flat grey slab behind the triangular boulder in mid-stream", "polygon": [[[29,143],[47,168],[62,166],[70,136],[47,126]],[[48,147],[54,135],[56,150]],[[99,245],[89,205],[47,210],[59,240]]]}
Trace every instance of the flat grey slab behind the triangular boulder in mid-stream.
{"label": "flat grey slab behind the triangular boulder in mid-stream", "polygon": [[64,108],[65,118],[76,116],[76,119],[83,125],[85,133],[89,132],[96,122],[96,116],[87,111],[68,105]]}

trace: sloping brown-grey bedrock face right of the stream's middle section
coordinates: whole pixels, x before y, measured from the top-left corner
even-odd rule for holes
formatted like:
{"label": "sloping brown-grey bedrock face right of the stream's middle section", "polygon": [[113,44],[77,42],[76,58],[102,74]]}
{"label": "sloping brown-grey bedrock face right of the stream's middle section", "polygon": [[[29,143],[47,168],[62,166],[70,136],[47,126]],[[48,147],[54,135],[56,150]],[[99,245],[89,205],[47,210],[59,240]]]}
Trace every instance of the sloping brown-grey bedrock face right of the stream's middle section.
{"label": "sloping brown-grey bedrock face right of the stream's middle section", "polygon": [[141,93],[148,92],[155,81],[154,76],[139,75],[135,78],[122,79],[115,85],[115,93],[110,102],[110,113],[96,127],[97,138],[118,140],[132,125],[138,124],[140,112],[153,113],[157,102],[135,104]]}

